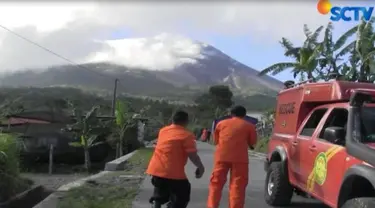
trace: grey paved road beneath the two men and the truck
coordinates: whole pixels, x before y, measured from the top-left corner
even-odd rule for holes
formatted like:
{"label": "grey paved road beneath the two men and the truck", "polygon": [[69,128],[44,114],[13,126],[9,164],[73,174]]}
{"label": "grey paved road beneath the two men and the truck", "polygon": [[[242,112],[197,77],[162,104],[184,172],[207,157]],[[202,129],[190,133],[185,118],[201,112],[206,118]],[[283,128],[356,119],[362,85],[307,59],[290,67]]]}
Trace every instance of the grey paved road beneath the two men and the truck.
{"label": "grey paved road beneath the two men and the truck", "polygon": [[[189,162],[187,165],[187,174],[192,185],[191,208],[205,208],[208,194],[208,183],[213,167],[213,151],[214,147],[207,143],[198,143],[199,154],[202,162],[206,166],[206,173],[201,179],[195,179],[195,167]],[[263,186],[265,180],[265,172],[263,170],[263,161],[259,157],[251,157],[250,159],[250,182],[247,188],[246,206],[255,208],[268,208],[263,200]],[[141,185],[141,191],[137,199],[133,202],[133,208],[149,208],[148,199],[152,194],[152,186],[150,179],[146,178]],[[293,205],[289,207],[304,208],[322,208],[322,204],[312,199],[305,199],[298,196],[293,197]],[[228,186],[223,190],[223,198],[220,208],[228,208]]]}

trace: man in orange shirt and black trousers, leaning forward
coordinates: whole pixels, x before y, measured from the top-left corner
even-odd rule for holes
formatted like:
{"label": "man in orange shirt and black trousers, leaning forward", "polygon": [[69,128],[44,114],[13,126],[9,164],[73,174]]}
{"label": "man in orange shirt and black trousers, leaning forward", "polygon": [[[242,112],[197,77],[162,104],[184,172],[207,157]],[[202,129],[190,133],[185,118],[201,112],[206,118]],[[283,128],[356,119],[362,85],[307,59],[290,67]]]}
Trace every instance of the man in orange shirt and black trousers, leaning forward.
{"label": "man in orange shirt and black trousers, leaning forward", "polygon": [[204,173],[204,166],[197,153],[195,136],[185,127],[189,116],[184,111],[173,115],[173,123],[159,131],[155,151],[146,173],[151,175],[154,186],[150,203],[160,208],[169,202],[169,208],[186,208],[190,201],[190,182],[185,174],[187,159],[197,167],[197,178]]}

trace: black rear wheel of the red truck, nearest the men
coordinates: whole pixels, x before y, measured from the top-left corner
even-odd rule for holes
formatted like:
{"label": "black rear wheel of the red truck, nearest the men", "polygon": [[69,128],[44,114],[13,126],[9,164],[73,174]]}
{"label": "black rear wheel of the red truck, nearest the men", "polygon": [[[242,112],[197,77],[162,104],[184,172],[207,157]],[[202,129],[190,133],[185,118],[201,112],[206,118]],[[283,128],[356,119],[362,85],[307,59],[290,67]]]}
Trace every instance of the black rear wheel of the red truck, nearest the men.
{"label": "black rear wheel of the red truck, nearest the men", "polygon": [[264,199],[271,206],[289,205],[293,196],[293,187],[289,183],[288,175],[283,171],[281,162],[273,162],[267,171],[264,186]]}

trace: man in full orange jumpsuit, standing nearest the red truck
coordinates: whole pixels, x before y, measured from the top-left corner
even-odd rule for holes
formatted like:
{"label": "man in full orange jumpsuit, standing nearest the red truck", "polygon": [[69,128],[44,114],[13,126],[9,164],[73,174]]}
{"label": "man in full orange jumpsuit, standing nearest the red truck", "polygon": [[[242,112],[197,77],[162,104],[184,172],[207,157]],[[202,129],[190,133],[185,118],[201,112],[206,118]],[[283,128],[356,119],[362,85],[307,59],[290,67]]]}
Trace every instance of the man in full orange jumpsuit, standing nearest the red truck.
{"label": "man in full orange jumpsuit, standing nearest the red truck", "polygon": [[223,187],[230,172],[229,208],[243,208],[249,174],[248,148],[256,144],[255,125],[245,121],[246,109],[236,106],[231,117],[220,121],[214,131],[216,151],[212,171],[208,208],[218,208]]}

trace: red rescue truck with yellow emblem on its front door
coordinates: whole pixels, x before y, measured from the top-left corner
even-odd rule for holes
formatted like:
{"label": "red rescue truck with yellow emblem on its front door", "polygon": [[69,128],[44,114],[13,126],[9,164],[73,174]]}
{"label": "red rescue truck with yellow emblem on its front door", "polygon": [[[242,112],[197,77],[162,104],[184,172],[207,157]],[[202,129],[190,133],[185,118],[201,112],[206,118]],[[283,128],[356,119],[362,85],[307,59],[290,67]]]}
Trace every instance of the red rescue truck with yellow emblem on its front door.
{"label": "red rescue truck with yellow emblem on its front door", "polygon": [[282,90],[265,162],[266,202],[286,206],[297,193],[333,208],[375,208],[374,98],[375,84],[337,80]]}

